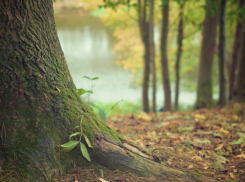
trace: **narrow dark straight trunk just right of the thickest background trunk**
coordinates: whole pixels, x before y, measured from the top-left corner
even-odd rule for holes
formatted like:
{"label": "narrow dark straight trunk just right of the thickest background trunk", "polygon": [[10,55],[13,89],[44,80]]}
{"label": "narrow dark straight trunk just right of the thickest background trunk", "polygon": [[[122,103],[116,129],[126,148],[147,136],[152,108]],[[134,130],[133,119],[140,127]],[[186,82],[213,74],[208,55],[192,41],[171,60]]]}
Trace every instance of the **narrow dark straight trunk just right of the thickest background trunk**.
{"label": "narrow dark straight trunk just right of the thickest background trunk", "polygon": [[226,104],[226,81],[224,73],[225,64],[225,6],[226,0],[220,2],[220,16],[219,16],[219,100],[218,105]]}

